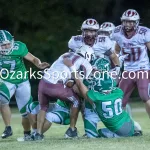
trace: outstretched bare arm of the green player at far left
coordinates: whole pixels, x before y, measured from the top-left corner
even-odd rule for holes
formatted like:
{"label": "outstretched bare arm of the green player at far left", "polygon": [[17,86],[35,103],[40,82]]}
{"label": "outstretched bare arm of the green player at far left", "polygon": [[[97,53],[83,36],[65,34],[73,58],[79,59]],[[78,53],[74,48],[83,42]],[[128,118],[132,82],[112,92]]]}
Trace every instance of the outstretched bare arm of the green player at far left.
{"label": "outstretched bare arm of the green player at far left", "polygon": [[29,52],[27,53],[26,56],[24,56],[24,58],[26,60],[32,62],[39,69],[45,69],[46,67],[50,66],[47,62],[41,62],[41,60],[39,58],[35,57],[34,55],[32,55]]}

